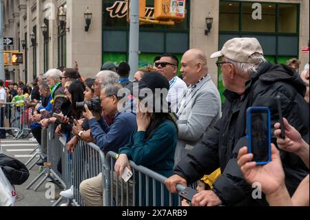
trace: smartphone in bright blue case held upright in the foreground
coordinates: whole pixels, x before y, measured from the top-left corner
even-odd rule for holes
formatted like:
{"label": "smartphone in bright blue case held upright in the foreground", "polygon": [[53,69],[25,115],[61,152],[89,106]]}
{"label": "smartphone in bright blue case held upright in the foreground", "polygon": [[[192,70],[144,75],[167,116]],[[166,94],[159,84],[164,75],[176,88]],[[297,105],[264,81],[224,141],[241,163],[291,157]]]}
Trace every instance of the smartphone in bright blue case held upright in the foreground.
{"label": "smartphone in bright blue case held upright in the foreground", "polygon": [[270,110],[265,107],[247,109],[247,149],[256,164],[271,161]]}

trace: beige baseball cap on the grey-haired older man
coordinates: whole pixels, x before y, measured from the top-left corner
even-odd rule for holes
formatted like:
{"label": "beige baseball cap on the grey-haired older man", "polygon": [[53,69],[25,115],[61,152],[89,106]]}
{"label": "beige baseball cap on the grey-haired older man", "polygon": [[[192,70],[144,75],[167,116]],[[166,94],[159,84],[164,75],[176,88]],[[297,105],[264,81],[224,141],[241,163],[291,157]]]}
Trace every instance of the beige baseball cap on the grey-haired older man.
{"label": "beige baseball cap on the grey-haired older man", "polygon": [[255,53],[263,55],[262,46],[256,38],[234,38],[227,41],[222,50],[211,54],[211,58],[224,56],[240,63],[251,63],[250,56]]}

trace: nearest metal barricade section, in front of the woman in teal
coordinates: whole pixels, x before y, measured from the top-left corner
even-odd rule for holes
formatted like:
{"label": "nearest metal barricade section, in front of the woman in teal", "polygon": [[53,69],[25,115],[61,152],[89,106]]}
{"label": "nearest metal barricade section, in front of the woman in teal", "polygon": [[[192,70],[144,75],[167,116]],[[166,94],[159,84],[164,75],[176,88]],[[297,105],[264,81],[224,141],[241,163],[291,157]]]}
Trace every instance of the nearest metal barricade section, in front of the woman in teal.
{"label": "nearest metal barricade section, in front of the woman in teal", "polygon": [[[105,175],[105,181],[110,181],[111,195],[105,203],[110,206],[180,206],[180,197],[169,193],[165,187],[167,177],[143,166],[137,166],[133,161],[130,161],[133,173],[131,182],[124,183],[120,178],[116,181],[113,172],[115,158],[115,152],[107,153],[106,161],[110,164],[110,174]],[[119,184],[121,186],[118,186]],[[177,186],[178,191],[184,189],[182,185]]]}

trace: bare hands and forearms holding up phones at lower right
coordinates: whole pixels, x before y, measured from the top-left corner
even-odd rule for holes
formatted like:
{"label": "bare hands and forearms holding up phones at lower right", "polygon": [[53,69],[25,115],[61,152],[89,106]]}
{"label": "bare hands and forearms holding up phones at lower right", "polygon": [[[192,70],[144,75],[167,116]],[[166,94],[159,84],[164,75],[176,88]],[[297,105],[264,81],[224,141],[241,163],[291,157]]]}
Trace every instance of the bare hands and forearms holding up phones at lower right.
{"label": "bare hands and forearms holding up phones at lower right", "polygon": [[[309,168],[309,144],[300,136],[299,132],[289,125],[286,119],[285,139],[280,138],[280,123],[276,123],[274,134],[280,150],[293,152],[304,161]],[[260,183],[269,206],[309,206],[309,174],[305,177],[293,196],[290,197],[285,186],[285,172],[282,168],[280,152],[271,144],[271,161],[263,166],[251,162],[253,154],[247,154],[247,147],[238,153],[238,165],[245,180],[250,183]]]}

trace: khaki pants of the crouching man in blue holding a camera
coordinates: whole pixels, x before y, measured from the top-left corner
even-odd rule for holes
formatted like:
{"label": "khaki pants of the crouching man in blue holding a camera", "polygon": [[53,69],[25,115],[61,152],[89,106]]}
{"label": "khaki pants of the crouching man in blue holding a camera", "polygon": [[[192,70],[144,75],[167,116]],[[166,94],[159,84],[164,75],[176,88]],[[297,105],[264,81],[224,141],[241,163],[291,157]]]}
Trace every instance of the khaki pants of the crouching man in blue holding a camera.
{"label": "khaki pants of the crouching man in blue holding a camera", "polygon": [[[121,181],[116,172],[113,174],[113,197],[116,194],[116,179],[118,179],[118,206],[121,206]],[[129,205],[132,206],[132,180],[129,181]],[[80,184],[81,197],[84,200],[85,206],[103,206],[103,188],[102,188],[102,173],[97,177],[85,179]],[[123,183],[123,205],[127,206],[127,184]],[[112,201],[112,205],[113,205]]]}

